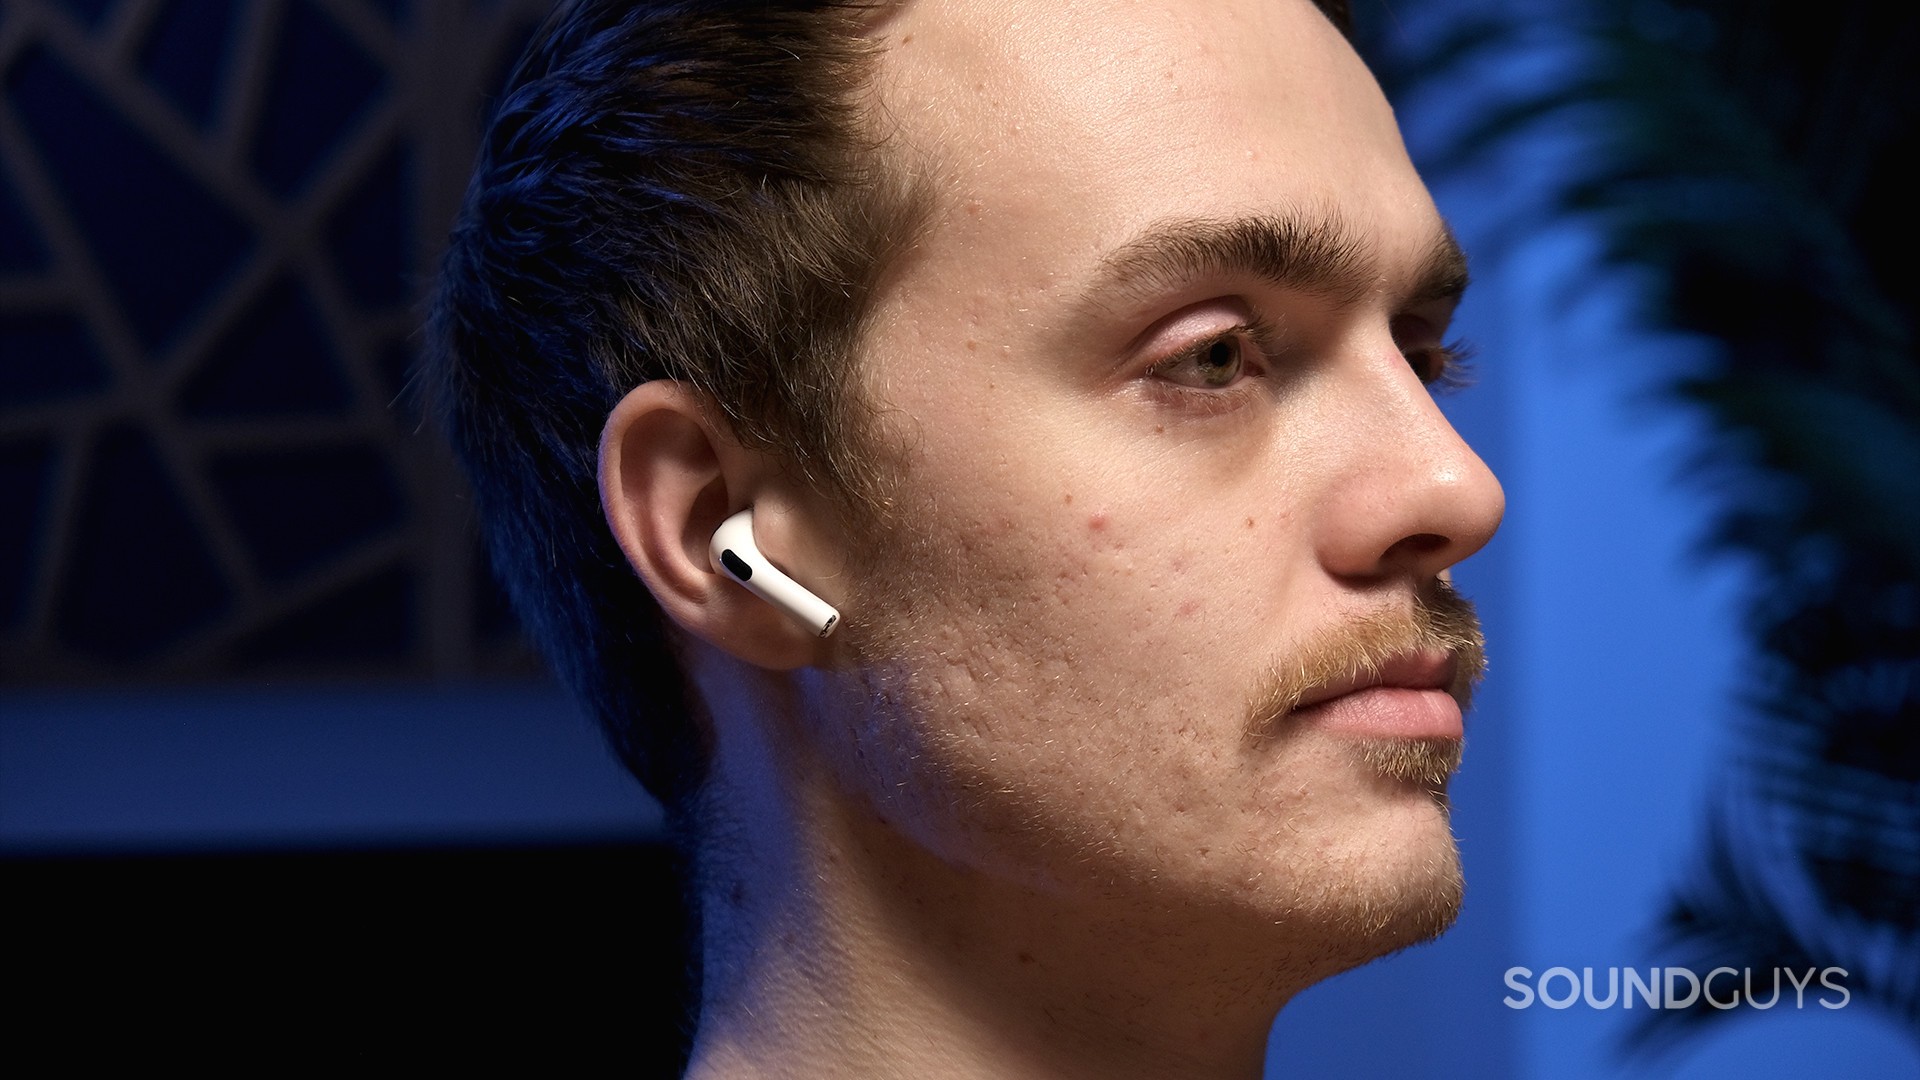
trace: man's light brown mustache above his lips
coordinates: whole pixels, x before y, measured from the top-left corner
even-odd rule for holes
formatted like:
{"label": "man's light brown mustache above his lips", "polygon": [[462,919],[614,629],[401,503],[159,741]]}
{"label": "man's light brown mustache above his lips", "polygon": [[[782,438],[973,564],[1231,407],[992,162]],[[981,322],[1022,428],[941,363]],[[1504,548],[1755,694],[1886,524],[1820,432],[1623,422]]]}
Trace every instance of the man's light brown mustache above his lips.
{"label": "man's light brown mustache above his lips", "polygon": [[1453,659],[1453,678],[1446,692],[1465,713],[1473,705],[1475,686],[1486,675],[1486,638],[1473,601],[1444,580],[1415,592],[1405,609],[1348,619],[1277,661],[1252,696],[1246,734],[1271,736],[1309,696],[1356,678],[1379,678],[1394,657],[1436,651]]}

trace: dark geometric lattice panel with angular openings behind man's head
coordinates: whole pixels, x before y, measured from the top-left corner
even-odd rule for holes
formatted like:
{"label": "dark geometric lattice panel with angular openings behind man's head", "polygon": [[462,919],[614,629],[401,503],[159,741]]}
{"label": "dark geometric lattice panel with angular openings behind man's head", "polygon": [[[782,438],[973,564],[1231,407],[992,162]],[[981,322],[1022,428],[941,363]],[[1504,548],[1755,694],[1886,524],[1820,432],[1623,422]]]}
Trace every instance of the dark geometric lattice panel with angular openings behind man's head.
{"label": "dark geometric lattice panel with angular openings behind man's head", "polygon": [[407,382],[553,0],[42,4],[0,8],[0,678],[538,671]]}

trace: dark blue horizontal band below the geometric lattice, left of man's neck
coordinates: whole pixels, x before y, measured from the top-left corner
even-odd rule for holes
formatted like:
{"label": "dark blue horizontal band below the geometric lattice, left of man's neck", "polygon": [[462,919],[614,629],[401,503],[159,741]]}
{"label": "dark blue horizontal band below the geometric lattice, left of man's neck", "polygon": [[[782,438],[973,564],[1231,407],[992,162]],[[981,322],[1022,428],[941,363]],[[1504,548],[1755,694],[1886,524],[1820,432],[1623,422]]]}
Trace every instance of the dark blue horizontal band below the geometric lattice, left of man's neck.
{"label": "dark blue horizontal band below the geometric lattice, left of man's neck", "polygon": [[655,840],[543,682],[0,696],[0,855]]}

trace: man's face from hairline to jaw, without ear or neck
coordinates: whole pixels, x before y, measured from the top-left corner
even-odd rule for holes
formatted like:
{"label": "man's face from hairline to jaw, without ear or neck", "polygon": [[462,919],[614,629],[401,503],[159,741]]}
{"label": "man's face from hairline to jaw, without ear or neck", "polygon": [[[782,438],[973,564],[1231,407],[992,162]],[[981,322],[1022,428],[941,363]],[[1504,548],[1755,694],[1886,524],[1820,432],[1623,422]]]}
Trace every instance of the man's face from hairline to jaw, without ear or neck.
{"label": "man's face from hairline to jaw, without ear or neck", "polygon": [[1459,275],[1371,75],[1306,0],[918,0],[883,35],[885,152],[941,202],[864,354],[906,467],[847,577],[860,675],[822,686],[847,780],[1027,888],[1436,930],[1446,811],[1382,757],[1446,749],[1446,694],[1271,700],[1359,646],[1442,680],[1409,613],[1501,515],[1423,384]]}

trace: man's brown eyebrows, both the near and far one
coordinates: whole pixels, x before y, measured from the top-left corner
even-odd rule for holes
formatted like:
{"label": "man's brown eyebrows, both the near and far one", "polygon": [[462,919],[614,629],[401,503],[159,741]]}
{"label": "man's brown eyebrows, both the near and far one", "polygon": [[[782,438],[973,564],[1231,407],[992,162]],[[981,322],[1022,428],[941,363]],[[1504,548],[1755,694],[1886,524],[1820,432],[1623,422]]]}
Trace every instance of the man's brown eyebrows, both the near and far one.
{"label": "man's brown eyebrows, both the near and far one", "polygon": [[[1331,215],[1185,217],[1162,221],[1108,252],[1081,307],[1144,302],[1194,279],[1252,275],[1281,288],[1354,307],[1373,294],[1373,248]],[[1430,304],[1467,292],[1467,254],[1440,223],[1405,300]]]}

